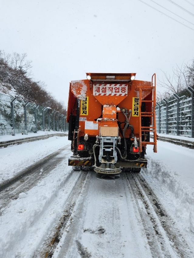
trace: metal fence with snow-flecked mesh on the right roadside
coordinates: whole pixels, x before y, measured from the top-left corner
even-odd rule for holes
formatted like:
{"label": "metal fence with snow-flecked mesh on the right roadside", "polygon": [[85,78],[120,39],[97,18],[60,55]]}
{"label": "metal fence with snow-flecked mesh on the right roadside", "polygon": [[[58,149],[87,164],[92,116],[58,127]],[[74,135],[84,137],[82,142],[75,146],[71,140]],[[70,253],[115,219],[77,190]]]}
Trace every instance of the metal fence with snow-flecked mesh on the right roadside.
{"label": "metal fence with snow-flecked mesh on the right roadside", "polygon": [[157,133],[194,137],[193,88],[157,102],[155,112]]}

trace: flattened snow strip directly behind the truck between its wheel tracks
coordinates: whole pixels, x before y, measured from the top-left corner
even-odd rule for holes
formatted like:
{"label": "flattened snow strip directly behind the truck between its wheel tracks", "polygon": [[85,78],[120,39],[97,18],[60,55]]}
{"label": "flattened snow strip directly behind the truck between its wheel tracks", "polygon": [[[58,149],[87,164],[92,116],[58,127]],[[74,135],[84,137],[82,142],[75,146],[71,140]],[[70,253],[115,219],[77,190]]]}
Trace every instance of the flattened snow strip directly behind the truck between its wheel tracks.
{"label": "flattened snow strip directly behind the truck between its wheel tracks", "polygon": [[95,173],[88,174],[74,210],[74,222],[52,257],[151,257],[126,178],[121,175],[121,180],[102,180]]}

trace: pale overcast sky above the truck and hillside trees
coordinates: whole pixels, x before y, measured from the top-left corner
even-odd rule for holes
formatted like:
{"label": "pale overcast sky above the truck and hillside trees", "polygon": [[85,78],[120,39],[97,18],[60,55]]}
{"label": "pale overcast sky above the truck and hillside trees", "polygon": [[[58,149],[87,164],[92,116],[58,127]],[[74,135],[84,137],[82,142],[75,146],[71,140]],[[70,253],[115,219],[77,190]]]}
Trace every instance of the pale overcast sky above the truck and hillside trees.
{"label": "pale overcast sky above the truck and hillside trees", "polygon": [[172,74],[176,64],[194,58],[194,0],[173,0],[190,13],[169,0],[154,1],[187,21],[143,2],[0,0],[0,50],[27,53],[34,80],[66,105],[69,82],[85,79],[86,72],[136,72],[136,79],[147,81],[156,73],[162,79],[161,70]]}

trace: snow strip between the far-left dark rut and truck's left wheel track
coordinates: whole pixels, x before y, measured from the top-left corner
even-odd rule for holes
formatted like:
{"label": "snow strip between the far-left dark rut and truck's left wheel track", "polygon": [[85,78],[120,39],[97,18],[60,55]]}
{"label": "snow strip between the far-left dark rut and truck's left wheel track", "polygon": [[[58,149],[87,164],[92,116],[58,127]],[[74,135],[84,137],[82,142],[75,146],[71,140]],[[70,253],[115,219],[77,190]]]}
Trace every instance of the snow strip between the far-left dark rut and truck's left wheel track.
{"label": "snow strip between the far-left dark rut and truck's left wheel track", "polygon": [[[63,208],[61,207],[63,207],[64,203],[68,200],[69,191],[75,187],[75,184],[80,177],[80,173],[73,173],[73,170],[70,167],[67,167],[68,171],[66,171],[66,173],[63,172],[68,163],[68,155],[66,155],[66,151],[63,151],[61,155],[64,157],[62,163],[58,164],[58,167],[46,175],[43,182],[44,184],[33,187],[28,191],[25,200],[30,198],[29,201],[36,204],[29,205],[29,209],[24,210],[24,213],[20,213],[20,220],[17,218],[18,222],[16,224],[12,220],[12,213],[9,212],[9,210],[13,209],[12,207],[8,208],[8,217],[10,217],[9,220],[12,226],[8,228],[8,232],[3,230],[3,232],[6,232],[6,244],[1,245],[1,257],[12,257],[13,254],[14,257],[40,257],[39,255],[35,256],[34,253],[43,243],[51,226],[53,226],[55,221],[58,220],[58,217],[60,217],[60,210],[61,212],[63,211]],[[57,171],[61,176],[56,174]],[[53,176],[55,179],[52,179]],[[51,188],[52,184],[53,189]],[[42,193],[36,196],[39,187],[41,187]],[[37,197],[41,198],[41,207],[37,203]],[[27,202],[29,201],[27,200]],[[15,206],[17,206],[17,203]],[[14,210],[18,209],[15,208],[15,206]],[[6,228],[7,223],[6,214],[7,213],[3,214],[1,217],[2,226],[4,228]],[[7,235],[9,235],[9,232],[11,232],[12,239],[14,239],[13,243],[12,241],[6,240],[8,239]],[[27,248],[26,245],[30,247]]]}

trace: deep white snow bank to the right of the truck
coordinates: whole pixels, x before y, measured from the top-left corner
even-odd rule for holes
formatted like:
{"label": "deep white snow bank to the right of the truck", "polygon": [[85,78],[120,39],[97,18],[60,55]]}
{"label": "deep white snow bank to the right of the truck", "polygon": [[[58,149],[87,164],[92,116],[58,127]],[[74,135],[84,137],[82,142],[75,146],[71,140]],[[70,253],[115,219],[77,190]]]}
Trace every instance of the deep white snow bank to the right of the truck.
{"label": "deep white snow bank to the right of the truck", "polygon": [[159,141],[158,153],[147,152],[144,177],[153,188],[158,187],[164,206],[168,206],[179,223],[194,233],[194,150]]}

